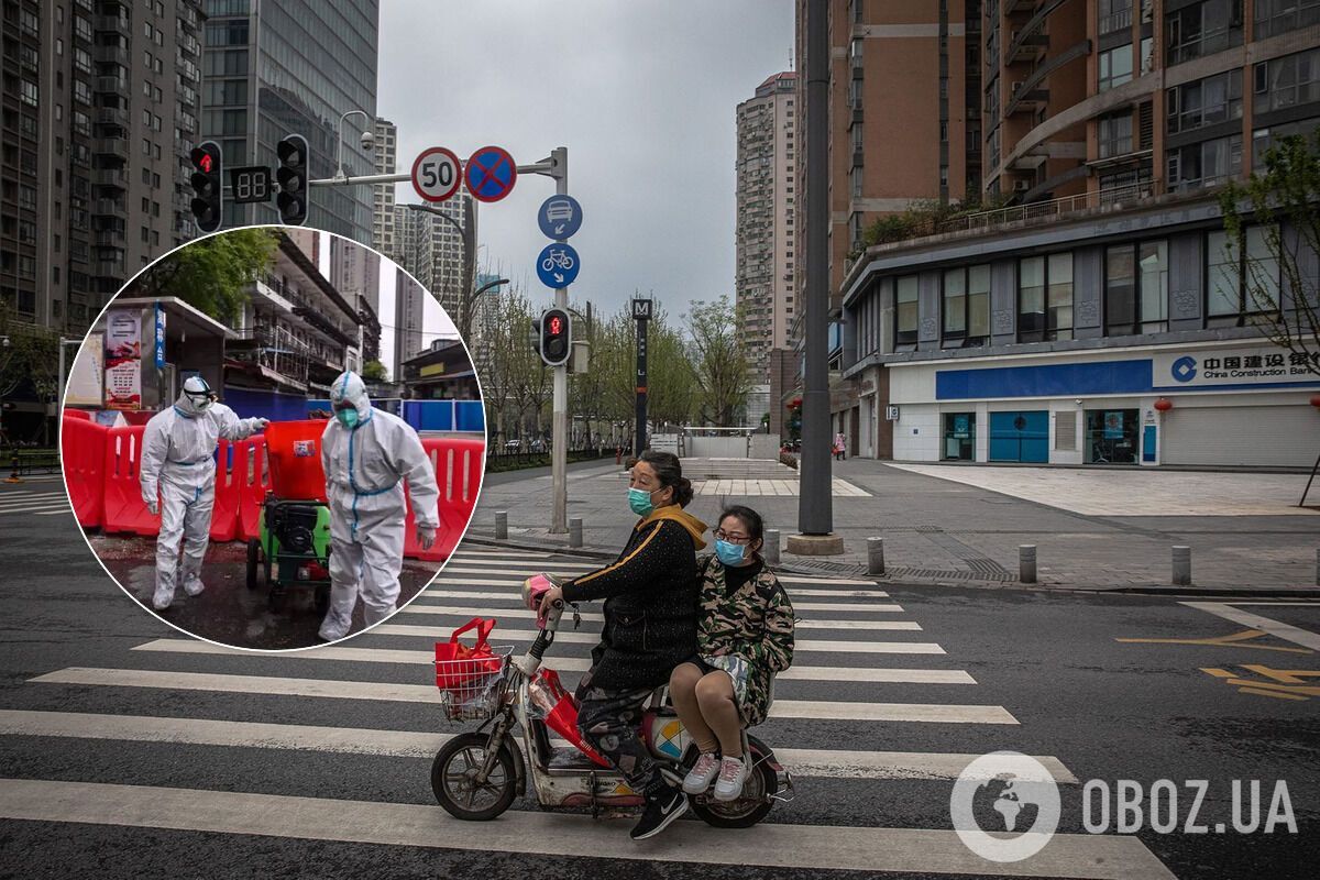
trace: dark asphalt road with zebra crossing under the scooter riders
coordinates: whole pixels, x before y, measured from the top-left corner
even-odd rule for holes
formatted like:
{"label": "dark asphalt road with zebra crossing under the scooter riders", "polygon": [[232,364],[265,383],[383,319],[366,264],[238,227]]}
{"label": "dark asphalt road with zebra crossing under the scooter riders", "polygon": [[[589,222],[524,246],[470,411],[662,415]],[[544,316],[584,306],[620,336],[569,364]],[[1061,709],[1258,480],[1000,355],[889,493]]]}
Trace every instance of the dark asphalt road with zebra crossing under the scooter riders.
{"label": "dark asphalt road with zebra crossing under the scooter riders", "polygon": [[[1316,604],[788,582],[799,650],[758,734],[795,772],[796,800],[748,831],[686,819],[639,846],[628,821],[525,800],[496,822],[461,823],[429,788],[441,738],[475,726],[432,702],[434,639],[478,611],[500,617],[496,641],[528,631],[516,579],[582,561],[465,548],[384,628],[261,656],[145,612],[71,517],[46,517],[36,534],[0,513],[0,553],[5,876],[686,877],[700,865],[714,880],[1287,879],[1313,876],[1320,859]],[[552,650],[568,683],[587,648]],[[997,749],[1038,756],[1063,780],[1059,834],[1006,865],[973,855],[949,817],[952,777]],[[1133,780],[1143,811],[1152,784],[1170,780],[1176,830],[1143,821],[1117,834],[1111,803],[1109,833],[1086,833],[1088,780],[1111,802]],[[1191,780],[1206,781],[1196,823],[1208,834],[1183,831]],[[1233,780],[1261,781],[1262,821],[1282,780],[1298,833],[1282,821],[1271,834],[1232,831]],[[978,825],[1002,830],[991,800],[974,806]],[[1023,823],[1036,815],[1026,802]],[[1213,833],[1218,822],[1229,830]]]}

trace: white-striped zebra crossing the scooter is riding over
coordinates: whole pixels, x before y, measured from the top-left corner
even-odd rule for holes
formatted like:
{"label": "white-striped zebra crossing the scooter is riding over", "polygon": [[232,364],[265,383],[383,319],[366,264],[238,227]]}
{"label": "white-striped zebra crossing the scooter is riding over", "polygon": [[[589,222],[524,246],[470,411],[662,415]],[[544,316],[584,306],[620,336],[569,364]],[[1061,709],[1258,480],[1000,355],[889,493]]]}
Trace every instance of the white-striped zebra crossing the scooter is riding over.
{"label": "white-striped zebra crossing the scooter is riding over", "polygon": [[[494,644],[523,649],[536,635],[535,615],[517,596],[523,578],[591,567],[581,558],[463,548],[401,613],[335,645],[272,654],[173,636],[144,639],[127,645],[114,664],[34,674],[20,686],[30,705],[0,708],[0,740],[149,749],[156,757],[143,760],[153,764],[176,749],[206,748],[214,767],[199,770],[201,781],[185,773],[187,785],[157,778],[127,785],[67,772],[50,780],[0,778],[0,818],[780,869],[1172,876],[1131,836],[1057,834],[1032,859],[997,865],[973,855],[948,825],[902,827],[903,810],[888,803],[886,782],[939,785],[946,801],[949,780],[979,755],[1012,748],[1020,722],[1011,707],[978,701],[977,679],[957,668],[920,621],[895,620],[908,615],[902,603],[874,582],[849,578],[781,577],[801,619],[795,665],[779,677],[771,716],[758,732],[799,780],[799,793],[764,823],[719,831],[682,822],[667,833],[681,838],[681,846],[667,846],[672,838],[661,835],[638,847],[619,823],[543,813],[532,801],[496,822],[463,823],[418,798],[434,752],[475,727],[444,720],[436,706],[432,643],[484,616],[499,620]],[[587,668],[599,612],[585,610],[578,631],[565,621],[546,664],[572,687]],[[895,623],[907,625],[879,625]],[[240,708],[246,706],[253,708]],[[895,748],[923,730],[952,732],[965,748]],[[866,748],[880,743],[884,749]],[[327,797],[294,782],[272,790],[248,784],[238,770],[230,774],[230,755],[256,755],[246,760],[272,767],[281,756],[321,756],[339,761],[341,774],[356,773],[364,789],[375,785],[384,760],[418,788],[385,800]],[[1059,757],[1035,757],[1059,784],[1077,784]],[[359,769],[352,761],[371,763]],[[869,786],[865,801],[884,806],[841,822],[837,805],[824,802],[838,785]]]}

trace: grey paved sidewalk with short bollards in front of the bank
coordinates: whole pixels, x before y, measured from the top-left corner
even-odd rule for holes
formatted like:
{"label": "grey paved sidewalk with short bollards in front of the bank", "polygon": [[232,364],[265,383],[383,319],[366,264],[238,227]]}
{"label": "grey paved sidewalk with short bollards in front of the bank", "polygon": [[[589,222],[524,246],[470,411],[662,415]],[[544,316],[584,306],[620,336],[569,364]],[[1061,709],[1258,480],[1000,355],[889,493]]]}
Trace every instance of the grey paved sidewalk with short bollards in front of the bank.
{"label": "grey paved sidewalk with short bollards in front of the bank", "polygon": [[[708,471],[711,462],[698,467]],[[1018,546],[1032,544],[1038,587],[1173,590],[1171,548],[1185,545],[1192,548],[1193,586],[1183,588],[1188,592],[1317,591],[1320,512],[1291,507],[1305,475],[894,466],[870,459],[833,467],[834,532],[846,551],[825,558],[783,553],[784,569],[865,575],[866,538],[883,537],[886,579],[892,583],[1015,587],[1022,586]],[[841,495],[838,480],[866,495]],[[756,483],[721,488],[764,493],[698,493],[688,509],[711,524],[725,504],[747,504],[787,540],[797,528],[796,480],[787,480],[793,495],[770,495]],[[623,546],[635,522],[626,496],[626,478],[612,463],[569,474],[569,516],[583,520],[583,550],[612,558]],[[549,476],[490,486],[469,537],[491,541],[495,511],[507,511],[510,544],[565,549],[568,536],[548,530],[550,500]]]}

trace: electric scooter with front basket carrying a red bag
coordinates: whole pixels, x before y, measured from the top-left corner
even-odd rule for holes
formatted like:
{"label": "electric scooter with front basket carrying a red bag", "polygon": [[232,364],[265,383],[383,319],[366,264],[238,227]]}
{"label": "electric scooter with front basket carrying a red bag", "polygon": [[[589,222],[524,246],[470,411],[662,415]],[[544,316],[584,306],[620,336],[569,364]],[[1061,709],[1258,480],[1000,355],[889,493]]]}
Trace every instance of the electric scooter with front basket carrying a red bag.
{"label": "electric scooter with front basket carrying a red bag", "polygon": [[[558,584],[546,574],[528,578],[523,600],[536,610],[545,591]],[[437,661],[437,682],[450,683],[441,686],[446,714],[455,720],[484,719],[477,731],[445,743],[432,764],[432,790],[450,815],[494,819],[527,793],[528,777],[543,809],[590,807],[593,817],[601,817],[643,806],[644,798],[582,739],[577,701],[558,673],[541,665],[564,610],[565,603],[558,600],[537,620],[536,640],[520,657],[511,657],[508,648],[492,657]],[[578,619],[576,606],[573,616]],[[697,748],[667,697],[668,687],[656,689],[644,707],[639,734],[660,761],[665,780],[678,786],[697,760]],[[521,728],[520,736],[515,726]],[[746,731],[743,755],[751,765],[739,798],[717,801],[710,793],[689,797],[693,813],[709,825],[751,827],[766,818],[775,801],[793,797],[792,776],[768,745]]]}

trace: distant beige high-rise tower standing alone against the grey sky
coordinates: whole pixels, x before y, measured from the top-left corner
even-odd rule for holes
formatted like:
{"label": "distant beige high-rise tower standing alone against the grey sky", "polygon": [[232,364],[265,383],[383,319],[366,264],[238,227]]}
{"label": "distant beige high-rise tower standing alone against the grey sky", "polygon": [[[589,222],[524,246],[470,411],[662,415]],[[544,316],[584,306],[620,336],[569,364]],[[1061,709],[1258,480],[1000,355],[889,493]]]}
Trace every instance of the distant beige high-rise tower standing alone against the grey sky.
{"label": "distant beige high-rise tower standing alone against the grey sky", "polygon": [[775,74],[738,104],[734,298],[758,383],[770,351],[788,344],[795,314],[797,75]]}

